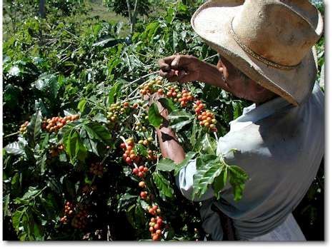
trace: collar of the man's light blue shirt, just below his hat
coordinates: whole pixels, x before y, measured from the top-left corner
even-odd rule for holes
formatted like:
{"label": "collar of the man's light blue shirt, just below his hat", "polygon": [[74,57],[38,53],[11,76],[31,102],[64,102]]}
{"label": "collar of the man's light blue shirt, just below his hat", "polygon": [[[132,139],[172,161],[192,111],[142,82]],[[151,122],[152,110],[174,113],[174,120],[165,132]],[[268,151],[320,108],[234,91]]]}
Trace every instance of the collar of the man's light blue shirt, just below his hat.
{"label": "collar of the man's light blue shirt, just below his hat", "polygon": [[239,116],[234,121],[229,123],[230,131],[238,131],[239,129],[266,118],[289,105],[291,105],[291,103],[282,97],[274,98],[271,101],[267,101],[257,107],[254,103],[243,109],[242,116]]}

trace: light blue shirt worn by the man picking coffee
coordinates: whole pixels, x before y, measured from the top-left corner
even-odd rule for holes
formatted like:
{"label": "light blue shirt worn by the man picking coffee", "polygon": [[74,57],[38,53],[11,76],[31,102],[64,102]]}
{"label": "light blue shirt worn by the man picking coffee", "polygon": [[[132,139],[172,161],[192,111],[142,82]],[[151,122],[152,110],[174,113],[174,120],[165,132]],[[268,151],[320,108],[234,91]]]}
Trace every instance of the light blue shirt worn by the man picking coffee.
{"label": "light blue shirt worn by the man picking coffee", "polygon": [[[237,148],[237,152],[228,153]],[[300,106],[274,98],[260,106],[244,108],[242,116],[230,123],[230,131],[219,138],[217,154],[249,175],[242,200],[233,200],[232,188],[214,198],[212,188],[197,201],[202,203],[204,230],[222,240],[219,210],[232,218],[238,239],[269,233],[297,207],[317,175],[324,156],[324,93],[317,83]],[[195,160],[180,171],[177,185],[187,198],[192,196]]]}

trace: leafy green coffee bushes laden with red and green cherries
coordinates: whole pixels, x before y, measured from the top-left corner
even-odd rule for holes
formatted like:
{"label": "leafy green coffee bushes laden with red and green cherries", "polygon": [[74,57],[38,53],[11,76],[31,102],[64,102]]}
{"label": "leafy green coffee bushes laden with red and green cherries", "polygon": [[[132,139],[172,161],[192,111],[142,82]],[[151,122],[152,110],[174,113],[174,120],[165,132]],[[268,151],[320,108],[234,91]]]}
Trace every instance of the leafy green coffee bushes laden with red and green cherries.
{"label": "leafy green coffee bushes laden with red and green cherries", "polygon": [[[194,200],[210,186],[221,198],[228,182],[239,200],[246,188],[246,172],[216,147],[249,103],[158,76],[156,61],[174,53],[217,63],[189,24],[198,4],[167,3],[131,37],[74,6],[61,19],[51,9],[26,16],[4,41],[4,239],[203,240]],[[156,103],[169,111],[182,163],[161,157]],[[175,176],[192,158],[200,171],[188,200]]]}

